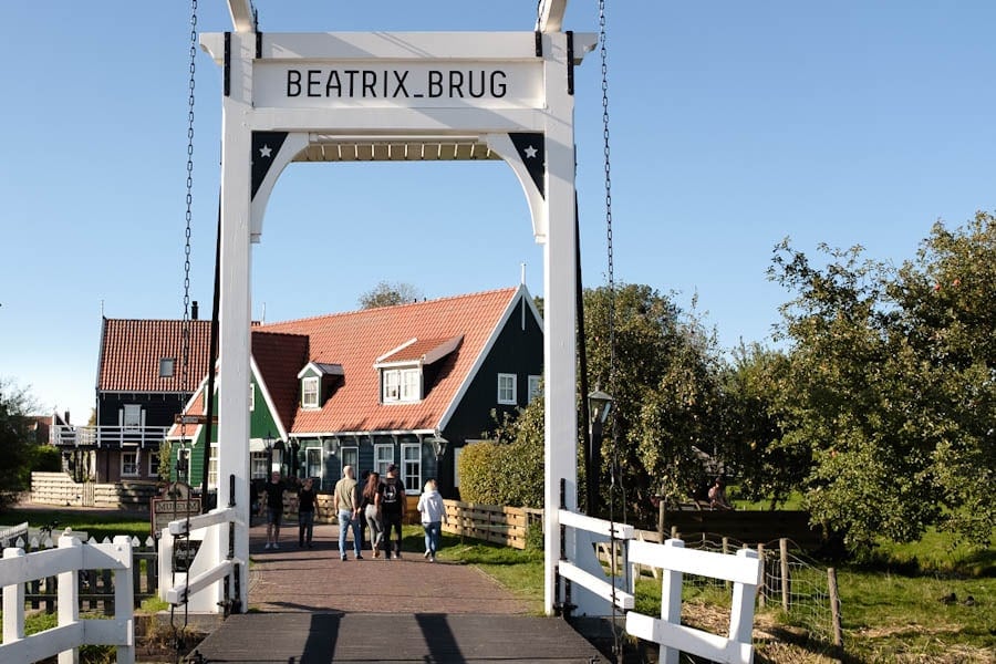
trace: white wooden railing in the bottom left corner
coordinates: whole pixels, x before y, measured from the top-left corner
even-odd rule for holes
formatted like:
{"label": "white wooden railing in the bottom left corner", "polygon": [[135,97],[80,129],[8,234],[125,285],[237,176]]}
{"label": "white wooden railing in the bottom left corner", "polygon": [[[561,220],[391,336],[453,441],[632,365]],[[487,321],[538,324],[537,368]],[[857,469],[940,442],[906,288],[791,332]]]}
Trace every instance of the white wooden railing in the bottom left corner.
{"label": "white wooden railing in the bottom left corner", "polygon": [[[114,618],[80,619],[80,571],[113,570]],[[59,625],[24,635],[24,583],[58,577]],[[118,664],[135,662],[135,630],[132,613],[132,540],[115,537],[105,544],[84,544],[63,535],[59,547],[33,553],[23,549],[3,550],[0,560],[3,588],[3,643],[0,662],[39,662],[59,655],[59,664],[74,664],[81,645],[116,645]]]}

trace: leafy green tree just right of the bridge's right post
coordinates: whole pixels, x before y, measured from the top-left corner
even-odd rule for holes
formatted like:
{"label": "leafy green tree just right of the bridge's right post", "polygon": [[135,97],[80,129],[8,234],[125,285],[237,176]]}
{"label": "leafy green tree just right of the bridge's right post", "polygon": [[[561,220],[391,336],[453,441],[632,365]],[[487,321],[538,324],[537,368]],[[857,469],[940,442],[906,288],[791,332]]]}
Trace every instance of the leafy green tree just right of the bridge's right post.
{"label": "leafy green tree just right of the bridge's right post", "polygon": [[584,292],[589,384],[615,400],[596,481],[608,505],[616,459],[625,492],[619,507],[645,522],[654,518],[654,496],[687,498],[706,480],[695,450],[719,444],[718,353],[715,335],[668,298],[647,286],[622,284],[614,297],[610,375],[609,295],[608,288]]}

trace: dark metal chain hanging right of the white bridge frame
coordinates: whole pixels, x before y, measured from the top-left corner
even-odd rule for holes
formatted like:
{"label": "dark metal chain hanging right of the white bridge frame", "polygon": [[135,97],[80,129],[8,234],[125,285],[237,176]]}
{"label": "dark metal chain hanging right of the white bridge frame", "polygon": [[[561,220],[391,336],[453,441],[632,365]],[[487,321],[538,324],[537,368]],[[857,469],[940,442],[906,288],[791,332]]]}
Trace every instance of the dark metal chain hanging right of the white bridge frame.
{"label": "dark metal chain hanging right of the white bridge frame", "polygon": [[[599,54],[602,61],[602,146],[605,160],[605,243],[609,257],[608,280],[609,280],[609,388],[615,391],[615,266],[612,251],[612,162],[610,159],[611,151],[609,143],[609,50],[606,44],[605,30],[605,0],[599,0]],[[609,563],[610,573],[612,575],[612,652],[616,662],[623,661],[622,640],[620,639],[619,621],[616,618],[618,606],[615,598],[615,577],[616,577],[616,551],[618,540],[615,538],[615,494],[622,488],[619,481],[619,445],[618,428],[615,423],[619,417],[612,418],[612,468],[610,473],[609,486],[609,530],[610,530],[610,550],[612,561]],[[616,484],[619,481],[619,484]],[[623,500],[625,505],[625,500]],[[624,517],[625,518],[625,517]]]}

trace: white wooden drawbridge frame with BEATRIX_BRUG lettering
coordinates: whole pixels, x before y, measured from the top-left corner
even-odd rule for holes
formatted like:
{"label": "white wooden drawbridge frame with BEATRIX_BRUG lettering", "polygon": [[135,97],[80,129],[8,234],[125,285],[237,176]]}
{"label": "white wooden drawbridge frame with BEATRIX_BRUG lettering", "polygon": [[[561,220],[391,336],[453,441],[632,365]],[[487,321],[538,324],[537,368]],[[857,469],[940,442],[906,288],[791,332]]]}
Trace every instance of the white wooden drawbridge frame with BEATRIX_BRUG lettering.
{"label": "white wooden drawbridge frame with BEATRIX_BRUG lettering", "polygon": [[[249,404],[241,386],[249,383],[250,245],[260,240],[269,195],[292,162],[485,158],[511,166],[543,245],[546,501],[560,505],[564,480],[564,507],[575,510],[572,84],[595,35],[561,30],[567,0],[544,0],[535,31],[498,33],[271,34],[257,29],[249,0],[228,4],[235,31],[203,34],[201,46],[221,65],[225,87],[218,476],[235,477],[235,496],[222,487],[219,504],[235,505],[237,518],[234,542],[227,528],[209,529],[211,542],[198,554],[208,558],[204,569],[222,566],[229,543],[235,559],[249,558]],[[543,596],[552,613],[556,509],[547,523]],[[566,547],[573,552],[575,542]],[[245,610],[245,566],[236,573]],[[201,593],[209,596],[200,605],[225,600],[220,583]],[[595,614],[604,611],[596,600],[581,591],[574,603]]]}

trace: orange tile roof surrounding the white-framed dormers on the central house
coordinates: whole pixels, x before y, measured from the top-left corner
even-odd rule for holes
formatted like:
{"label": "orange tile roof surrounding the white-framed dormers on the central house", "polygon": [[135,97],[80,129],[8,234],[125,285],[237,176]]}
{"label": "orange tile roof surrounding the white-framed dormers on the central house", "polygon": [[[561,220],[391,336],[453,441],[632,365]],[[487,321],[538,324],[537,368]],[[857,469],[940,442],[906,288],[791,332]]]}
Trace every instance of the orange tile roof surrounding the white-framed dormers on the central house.
{"label": "orange tile roof surrounding the white-framed dormers on the central house", "polygon": [[[261,326],[259,330],[264,332],[308,336],[310,361],[340,364],[345,373],[342,385],[321,408],[298,407],[293,418],[284,419],[284,424],[290,425],[293,434],[438,428],[518,293],[519,289],[509,288]],[[458,336],[463,336],[463,341],[440,360],[438,377],[423,401],[380,403],[380,376],[374,369],[377,357],[412,339],[429,342],[421,356]],[[416,342],[398,355],[413,359],[411,349],[416,345],[421,346]],[[295,380],[304,364],[287,366],[286,371]],[[294,390],[297,402],[297,387]]]}

